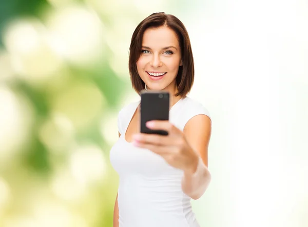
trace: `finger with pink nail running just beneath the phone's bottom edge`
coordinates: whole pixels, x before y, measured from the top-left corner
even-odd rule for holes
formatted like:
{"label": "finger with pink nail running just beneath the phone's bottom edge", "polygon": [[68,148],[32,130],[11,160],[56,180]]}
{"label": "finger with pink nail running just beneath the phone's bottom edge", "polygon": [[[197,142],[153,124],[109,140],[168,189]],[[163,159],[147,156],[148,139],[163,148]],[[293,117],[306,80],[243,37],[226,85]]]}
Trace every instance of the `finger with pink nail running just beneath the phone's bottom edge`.
{"label": "finger with pink nail running just beneath the phone's bottom edge", "polygon": [[152,145],[171,146],[174,144],[174,139],[170,138],[169,136],[138,133],[138,134],[134,134],[132,137],[134,140],[138,142],[150,143]]}

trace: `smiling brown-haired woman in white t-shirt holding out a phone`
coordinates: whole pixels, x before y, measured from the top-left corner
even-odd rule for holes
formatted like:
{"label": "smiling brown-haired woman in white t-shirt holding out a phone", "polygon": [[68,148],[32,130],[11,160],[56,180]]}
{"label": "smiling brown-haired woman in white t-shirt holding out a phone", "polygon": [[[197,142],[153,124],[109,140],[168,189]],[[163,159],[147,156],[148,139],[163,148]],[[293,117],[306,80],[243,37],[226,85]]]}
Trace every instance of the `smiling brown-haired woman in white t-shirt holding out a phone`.
{"label": "smiling brown-haired woman in white t-shirt holding out a phone", "polygon": [[129,50],[134,90],[170,93],[169,121],[147,122],[168,136],[138,132],[140,101],[120,111],[119,140],[110,151],[120,176],[113,227],[197,227],[190,199],[200,198],[210,182],[211,120],[186,96],[194,81],[187,31],[177,17],[153,13],[137,26]]}

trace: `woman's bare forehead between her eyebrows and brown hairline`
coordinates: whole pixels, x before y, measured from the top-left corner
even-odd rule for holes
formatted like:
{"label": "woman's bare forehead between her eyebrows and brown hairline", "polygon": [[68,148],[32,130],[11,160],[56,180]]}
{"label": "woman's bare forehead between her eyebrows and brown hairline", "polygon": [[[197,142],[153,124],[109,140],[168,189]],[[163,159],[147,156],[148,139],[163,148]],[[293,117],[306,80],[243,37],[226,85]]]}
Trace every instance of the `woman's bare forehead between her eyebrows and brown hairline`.
{"label": "woman's bare forehead between her eyebrows and brown hairline", "polygon": [[152,49],[167,46],[179,49],[179,40],[175,31],[168,27],[148,28],[143,34],[142,45]]}

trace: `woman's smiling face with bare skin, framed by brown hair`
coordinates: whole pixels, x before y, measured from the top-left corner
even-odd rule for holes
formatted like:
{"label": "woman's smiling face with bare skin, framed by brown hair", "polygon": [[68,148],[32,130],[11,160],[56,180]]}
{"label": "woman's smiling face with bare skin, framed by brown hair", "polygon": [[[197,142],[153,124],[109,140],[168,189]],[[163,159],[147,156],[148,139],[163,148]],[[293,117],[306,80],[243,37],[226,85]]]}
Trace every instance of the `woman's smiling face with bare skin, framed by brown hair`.
{"label": "woman's smiling face with bare skin, framed by brown hair", "polygon": [[181,65],[179,41],[172,29],[149,28],[144,32],[137,70],[147,89],[174,93]]}

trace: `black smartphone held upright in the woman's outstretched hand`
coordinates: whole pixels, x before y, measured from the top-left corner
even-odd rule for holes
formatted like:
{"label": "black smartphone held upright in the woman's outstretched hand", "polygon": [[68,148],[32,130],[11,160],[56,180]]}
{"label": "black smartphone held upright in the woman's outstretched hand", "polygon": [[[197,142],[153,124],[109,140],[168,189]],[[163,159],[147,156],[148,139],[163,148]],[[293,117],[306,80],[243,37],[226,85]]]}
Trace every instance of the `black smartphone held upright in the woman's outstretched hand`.
{"label": "black smartphone held upright in the woman's outstretched hand", "polygon": [[149,120],[169,120],[169,92],[141,91],[140,132],[168,135],[164,130],[151,130],[145,126]]}

